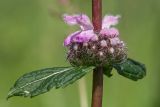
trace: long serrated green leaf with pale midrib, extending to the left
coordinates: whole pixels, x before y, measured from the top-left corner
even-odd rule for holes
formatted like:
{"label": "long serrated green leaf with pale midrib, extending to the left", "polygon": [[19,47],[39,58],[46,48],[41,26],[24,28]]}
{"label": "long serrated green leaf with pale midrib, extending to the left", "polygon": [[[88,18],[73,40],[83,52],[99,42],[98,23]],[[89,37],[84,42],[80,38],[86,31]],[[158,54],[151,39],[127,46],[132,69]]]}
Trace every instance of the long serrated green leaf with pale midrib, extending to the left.
{"label": "long serrated green leaf with pale midrib, extending to the left", "polygon": [[33,71],[20,77],[10,89],[8,97],[34,97],[51,88],[65,87],[83,77],[94,67],[54,67]]}

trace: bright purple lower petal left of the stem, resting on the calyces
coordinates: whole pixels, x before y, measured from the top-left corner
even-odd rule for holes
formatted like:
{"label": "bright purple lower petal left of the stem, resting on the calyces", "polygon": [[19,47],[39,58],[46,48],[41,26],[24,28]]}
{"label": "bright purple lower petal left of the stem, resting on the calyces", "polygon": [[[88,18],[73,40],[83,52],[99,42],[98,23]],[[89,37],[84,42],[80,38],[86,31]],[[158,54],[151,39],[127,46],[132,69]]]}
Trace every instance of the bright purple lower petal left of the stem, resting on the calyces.
{"label": "bright purple lower petal left of the stem, resting on the calyces", "polygon": [[86,30],[74,36],[72,40],[73,42],[84,43],[88,42],[94,36],[96,36],[96,34],[94,34],[93,30]]}

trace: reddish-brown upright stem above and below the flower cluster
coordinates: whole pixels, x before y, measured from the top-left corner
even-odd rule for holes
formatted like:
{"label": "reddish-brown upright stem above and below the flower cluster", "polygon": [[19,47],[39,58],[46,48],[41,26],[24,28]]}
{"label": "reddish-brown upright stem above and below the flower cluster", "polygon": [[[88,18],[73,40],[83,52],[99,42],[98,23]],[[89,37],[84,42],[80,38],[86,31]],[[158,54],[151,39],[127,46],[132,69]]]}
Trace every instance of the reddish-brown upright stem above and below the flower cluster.
{"label": "reddish-brown upright stem above and below the flower cluster", "polygon": [[[92,22],[94,32],[98,33],[102,27],[102,0],[92,0]],[[92,105],[102,107],[103,96],[103,68],[97,67],[93,72]]]}

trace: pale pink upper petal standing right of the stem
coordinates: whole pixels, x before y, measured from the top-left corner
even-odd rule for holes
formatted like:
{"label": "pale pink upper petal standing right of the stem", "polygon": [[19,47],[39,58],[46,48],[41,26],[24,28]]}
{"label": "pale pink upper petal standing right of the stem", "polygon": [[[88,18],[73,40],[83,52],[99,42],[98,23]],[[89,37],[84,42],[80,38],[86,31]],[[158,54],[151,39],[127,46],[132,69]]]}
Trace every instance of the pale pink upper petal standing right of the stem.
{"label": "pale pink upper petal standing right of the stem", "polygon": [[118,24],[119,18],[120,18],[119,15],[117,15],[117,16],[112,16],[112,15],[104,16],[103,21],[102,21],[102,29],[110,28],[112,25]]}

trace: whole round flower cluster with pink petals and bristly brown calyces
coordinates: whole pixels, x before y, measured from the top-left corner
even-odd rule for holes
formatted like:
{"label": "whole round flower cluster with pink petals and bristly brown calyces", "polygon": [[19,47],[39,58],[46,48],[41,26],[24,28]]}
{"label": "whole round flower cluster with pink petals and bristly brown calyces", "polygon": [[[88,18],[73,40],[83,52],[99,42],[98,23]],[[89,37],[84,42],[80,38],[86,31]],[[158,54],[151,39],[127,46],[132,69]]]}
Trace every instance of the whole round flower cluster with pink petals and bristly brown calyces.
{"label": "whole round flower cluster with pink petals and bristly brown calyces", "polygon": [[94,32],[89,17],[85,14],[64,15],[68,25],[79,25],[80,30],[70,34],[64,41],[68,47],[68,60],[72,65],[94,65],[120,63],[126,59],[126,47],[119,39],[119,31],[113,26],[120,16],[106,15],[100,32]]}

